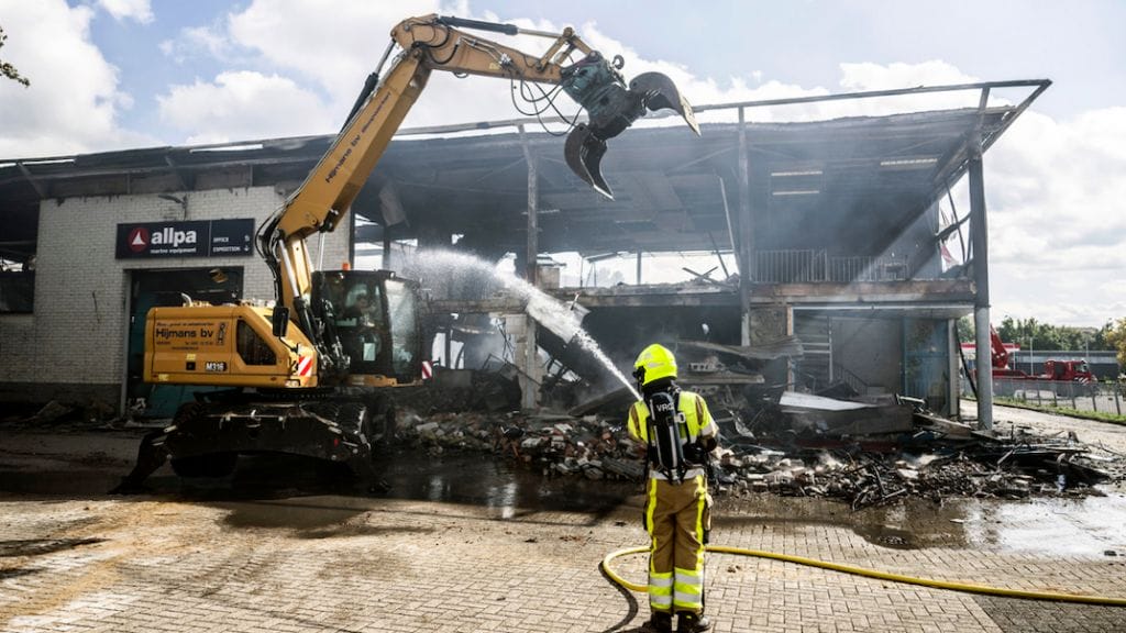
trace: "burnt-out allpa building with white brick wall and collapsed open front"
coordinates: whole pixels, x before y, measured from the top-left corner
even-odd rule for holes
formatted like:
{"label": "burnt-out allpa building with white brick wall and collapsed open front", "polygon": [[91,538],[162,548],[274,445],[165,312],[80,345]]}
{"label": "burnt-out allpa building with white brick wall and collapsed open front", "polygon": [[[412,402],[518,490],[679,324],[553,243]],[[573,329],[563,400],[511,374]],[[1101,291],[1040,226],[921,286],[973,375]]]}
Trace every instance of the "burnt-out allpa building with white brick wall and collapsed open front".
{"label": "burnt-out allpa building with white brick wall and collapsed open front", "polygon": [[[583,328],[619,368],[654,341],[683,344],[686,362],[706,371],[707,355],[697,359],[689,350],[707,347],[691,344],[745,350],[789,338],[801,354],[754,367],[762,382],[803,391],[843,383],[861,394],[921,398],[953,413],[954,322],[974,313],[988,328],[983,154],[1048,86],[1010,81],[698,107],[700,137],[682,127],[636,126],[613,140],[602,162],[613,199],[579,180],[562,160],[562,141],[535,122],[404,131],[354,204],[349,229],[314,243],[314,261],[338,267],[375,243],[394,266],[390,255],[405,240],[419,251],[441,247],[485,261],[515,253],[518,270],[540,276],[546,292],[587,312]],[[1021,96],[998,99],[1002,91]],[[901,99],[950,95],[968,96],[971,105],[911,101],[894,112]],[[805,114],[846,104],[839,116]],[[759,116],[768,108],[769,117]],[[787,112],[790,122],[762,122],[787,121],[779,118]],[[251,250],[208,249],[215,238],[239,241],[257,229],[330,142],[0,161],[0,395],[155,408],[164,396],[138,384],[137,321],[149,305],[175,302],[181,292],[272,298],[268,271]],[[939,203],[953,199],[959,182],[969,203],[944,222]],[[170,230],[173,241],[177,232],[204,240],[207,231],[209,241],[190,252],[140,257],[129,250],[138,228]],[[968,256],[944,264],[942,244],[959,231],[972,243]],[[564,252],[584,262],[627,253],[637,258],[637,274],[610,287],[551,287],[543,256]],[[642,275],[643,258],[674,252],[712,253],[723,270],[695,271],[687,283]],[[518,301],[448,288],[432,298],[439,315],[521,310]],[[465,332],[474,327],[455,321],[436,318],[431,333],[461,339],[472,356],[474,337]],[[521,345],[536,340],[535,328],[507,333],[524,337]],[[548,382],[556,359],[568,357],[569,341],[553,336],[565,338],[540,333],[551,362],[534,353],[508,359],[526,387]],[[582,360],[563,364],[581,369]],[[534,405],[527,393],[535,390],[525,391]]]}

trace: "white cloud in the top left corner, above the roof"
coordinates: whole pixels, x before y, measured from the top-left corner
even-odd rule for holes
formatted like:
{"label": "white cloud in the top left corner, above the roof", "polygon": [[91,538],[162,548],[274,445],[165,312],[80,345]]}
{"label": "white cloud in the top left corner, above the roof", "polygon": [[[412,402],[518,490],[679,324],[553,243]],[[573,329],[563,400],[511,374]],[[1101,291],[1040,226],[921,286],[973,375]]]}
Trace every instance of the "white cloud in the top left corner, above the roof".
{"label": "white cloud in the top left corner, above the roof", "polygon": [[[118,70],[90,42],[89,7],[62,0],[0,0],[5,61],[29,88],[0,84],[0,157],[32,158],[146,144],[123,133],[117,117],[132,106]],[[45,45],[44,43],[50,43]]]}

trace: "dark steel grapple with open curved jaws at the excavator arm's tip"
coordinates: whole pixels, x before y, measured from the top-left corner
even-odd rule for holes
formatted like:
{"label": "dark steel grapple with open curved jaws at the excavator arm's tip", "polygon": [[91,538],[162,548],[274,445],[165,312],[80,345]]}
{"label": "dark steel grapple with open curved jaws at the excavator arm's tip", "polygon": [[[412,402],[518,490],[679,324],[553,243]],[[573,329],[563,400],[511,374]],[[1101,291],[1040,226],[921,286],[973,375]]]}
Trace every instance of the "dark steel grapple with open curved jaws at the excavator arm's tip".
{"label": "dark steel grapple with open curved jaws at the excavator arm's tip", "polygon": [[562,87],[579,102],[588,115],[588,123],[580,124],[566,139],[568,167],[598,193],[614,199],[609,185],[602,178],[601,162],[606,141],[633,125],[646,110],[676,110],[692,132],[699,135],[699,125],[692,107],[667,75],[659,72],[638,74],[626,88],[620,64],[611,64],[593,52],[562,71]]}

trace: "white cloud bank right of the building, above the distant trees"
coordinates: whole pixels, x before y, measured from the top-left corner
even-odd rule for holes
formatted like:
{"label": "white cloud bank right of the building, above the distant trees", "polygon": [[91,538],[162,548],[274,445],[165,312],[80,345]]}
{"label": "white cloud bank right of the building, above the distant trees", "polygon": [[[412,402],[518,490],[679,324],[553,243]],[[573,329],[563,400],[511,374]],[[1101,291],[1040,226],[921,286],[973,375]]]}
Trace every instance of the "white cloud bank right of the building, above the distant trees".
{"label": "white cloud bank right of the building, above the distant trees", "polygon": [[[1015,318],[1126,314],[1126,108],[1026,112],[985,155],[992,298]],[[1048,298],[1051,297],[1051,298]]]}

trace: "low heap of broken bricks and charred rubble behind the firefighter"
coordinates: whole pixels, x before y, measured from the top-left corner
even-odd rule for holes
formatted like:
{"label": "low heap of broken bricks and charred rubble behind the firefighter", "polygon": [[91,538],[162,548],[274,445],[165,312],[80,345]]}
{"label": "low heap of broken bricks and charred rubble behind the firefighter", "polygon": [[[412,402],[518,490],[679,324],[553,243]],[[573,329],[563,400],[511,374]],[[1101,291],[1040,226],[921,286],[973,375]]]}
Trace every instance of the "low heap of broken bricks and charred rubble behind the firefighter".
{"label": "low heap of broken bricks and charred rubble behind the firefighter", "polygon": [[[713,463],[720,493],[828,497],[854,509],[905,497],[941,502],[951,497],[1082,496],[1096,490],[1093,483],[1124,481],[1126,473],[1126,457],[1099,454],[1074,435],[951,437],[949,429],[937,433],[935,420],[926,417],[912,431],[894,436],[826,438],[790,431],[754,438],[745,427],[733,428],[732,420],[721,424],[721,430],[725,442]],[[403,412],[396,436],[402,445],[431,455],[492,453],[544,476],[642,481],[645,475],[640,447],[622,420],[602,416],[447,412],[423,418]],[[814,440],[834,446],[815,446]]]}

